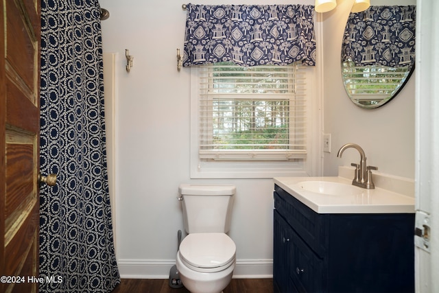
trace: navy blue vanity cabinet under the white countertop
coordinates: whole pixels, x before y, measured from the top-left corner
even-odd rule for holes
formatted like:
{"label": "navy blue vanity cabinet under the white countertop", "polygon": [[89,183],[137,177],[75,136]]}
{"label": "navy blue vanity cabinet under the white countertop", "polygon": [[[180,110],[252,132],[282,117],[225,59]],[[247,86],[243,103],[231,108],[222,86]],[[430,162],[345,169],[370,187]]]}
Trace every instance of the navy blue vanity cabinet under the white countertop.
{"label": "navy blue vanity cabinet under the white countertop", "polygon": [[275,185],[274,292],[414,292],[414,213],[319,214]]}

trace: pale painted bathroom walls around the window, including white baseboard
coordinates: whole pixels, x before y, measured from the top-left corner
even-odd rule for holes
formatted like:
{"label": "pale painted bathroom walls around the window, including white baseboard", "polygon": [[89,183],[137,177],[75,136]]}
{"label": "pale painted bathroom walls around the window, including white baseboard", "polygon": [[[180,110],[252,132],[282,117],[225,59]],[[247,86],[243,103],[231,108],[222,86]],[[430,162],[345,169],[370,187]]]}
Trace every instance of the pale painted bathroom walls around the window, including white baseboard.
{"label": "pale painted bathroom walls around the window, including white baseboard", "polygon": [[[373,0],[372,0],[373,1]],[[394,1],[396,4],[396,1]],[[175,263],[177,231],[183,230],[180,183],[233,184],[237,188],[230,237],[237,246],[236,278],[272,275],[272,178],[191,178],[191,73],[177,70],[186,13],[169,0],[100,0],[110,18],[102,23],[104,54],[114,58],[110,78],[113,220],[119,272],[124,279],[166,279]],[[204,1],[194,1],[204,3]],[[215,2],[216,3],[216,2]],[[218,4],[233,4],[224,0]],[[265,4],[263,0],[240,3]],[[278,4],[291,3],[279,0]],[[294,3],[313,5],[313,0]],[[337,176],[338,166],[357,161],[355,152],[337,158],[344,143],[361,145],[379,172],[415,178],[415,75],[385,106],[364,110],[344,90],[340,74],[342,32],[352,0],[320,14],[322,42],[316,84],[317,132],[331,134],[331,152],[322,136],[309,152],[309,176]],[[399,1],[398,1],[399,3]],[[373,4],[373,3],[372,3]],[[126,71],[126,49],[134,57]],[[106,69],[108,70],[108,68]],[[110,71],[111,72],[111,71]],[[108,78],[108,75],[107,75]],[[111,88],[111,90],[109,90]]]}

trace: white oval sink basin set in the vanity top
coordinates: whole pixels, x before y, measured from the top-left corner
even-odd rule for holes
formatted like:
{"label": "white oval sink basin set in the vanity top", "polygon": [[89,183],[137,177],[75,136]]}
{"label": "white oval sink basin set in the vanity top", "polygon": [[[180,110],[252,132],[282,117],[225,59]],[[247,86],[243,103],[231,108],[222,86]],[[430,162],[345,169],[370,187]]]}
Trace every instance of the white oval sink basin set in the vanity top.
{"label": "white oval sink basin set in the vanity top", "polygon": [[331,196],[355,196],[363,193],[359,187],[331,181],[302,181],[297,185],[302,190]]}

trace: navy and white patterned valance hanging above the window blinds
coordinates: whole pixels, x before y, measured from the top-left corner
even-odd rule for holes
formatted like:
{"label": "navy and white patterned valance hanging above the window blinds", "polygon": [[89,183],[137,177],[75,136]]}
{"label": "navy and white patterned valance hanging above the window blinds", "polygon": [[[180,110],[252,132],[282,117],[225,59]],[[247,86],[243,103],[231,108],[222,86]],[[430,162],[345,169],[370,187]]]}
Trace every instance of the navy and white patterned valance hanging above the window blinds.
{"label": "navy and white patterned valance hanging above the window blinds", "polygon": [[316,65],[313,5],[187,5],[183,66]]}

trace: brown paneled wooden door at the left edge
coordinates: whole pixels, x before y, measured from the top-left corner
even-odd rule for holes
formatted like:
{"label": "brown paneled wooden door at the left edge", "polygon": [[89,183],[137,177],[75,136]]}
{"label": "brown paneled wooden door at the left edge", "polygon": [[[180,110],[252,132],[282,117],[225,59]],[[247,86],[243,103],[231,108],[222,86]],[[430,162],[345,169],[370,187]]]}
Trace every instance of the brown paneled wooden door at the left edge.
{"label": "brown paneled wooden door at the left edge", "polygon": [[40,0],[0,5],[0,292],[38,292]]}

